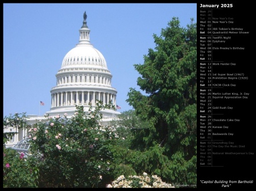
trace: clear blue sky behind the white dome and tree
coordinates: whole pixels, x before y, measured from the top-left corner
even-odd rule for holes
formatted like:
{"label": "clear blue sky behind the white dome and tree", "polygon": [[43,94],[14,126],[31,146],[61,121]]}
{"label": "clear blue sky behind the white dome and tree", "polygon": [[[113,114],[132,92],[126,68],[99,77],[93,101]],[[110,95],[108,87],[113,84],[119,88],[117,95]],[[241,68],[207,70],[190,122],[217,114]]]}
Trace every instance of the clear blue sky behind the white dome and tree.
{"label": "clear blue sky behind the white dome and tree", "polygon": [[174,16],[181,27],[196,21],[196,3],[4,3],[3,117],[50,111],[55,75],[79,43],[84,11],[90,43],[113,75],[119,112],[133,109],[126,102],[130,87],[140,90],[133,65],[155,48],[153,34],[160,36]]}

